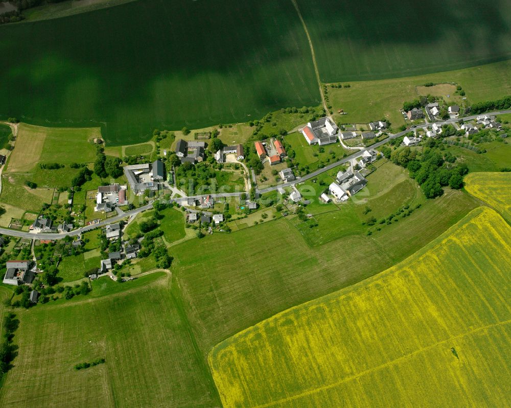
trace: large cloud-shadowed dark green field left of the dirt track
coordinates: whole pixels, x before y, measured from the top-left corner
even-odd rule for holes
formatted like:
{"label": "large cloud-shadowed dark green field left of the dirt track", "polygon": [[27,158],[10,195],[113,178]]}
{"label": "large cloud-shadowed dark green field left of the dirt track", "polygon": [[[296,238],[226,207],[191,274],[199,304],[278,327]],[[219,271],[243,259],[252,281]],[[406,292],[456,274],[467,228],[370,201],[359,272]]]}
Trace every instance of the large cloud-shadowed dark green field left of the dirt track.
{"label": "large cloud-shadowed dark green field left of the dirt track", "polygon": [[0,117],[103,123],[109,145],[319,103],[290,1],[144,0],[3,26],[0,38]]}

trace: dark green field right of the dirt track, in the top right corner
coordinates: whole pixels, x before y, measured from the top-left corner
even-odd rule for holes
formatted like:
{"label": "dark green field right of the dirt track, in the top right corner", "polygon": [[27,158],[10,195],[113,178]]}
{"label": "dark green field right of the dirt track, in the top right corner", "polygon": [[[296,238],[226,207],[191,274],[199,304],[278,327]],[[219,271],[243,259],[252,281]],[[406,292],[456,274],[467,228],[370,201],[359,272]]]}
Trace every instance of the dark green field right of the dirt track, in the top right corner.
{"label": "dark green field right of the dirt track, in the top right corner", "polygon": [[405,77],[511,57],[507,0],[297,0],[322,82]]}

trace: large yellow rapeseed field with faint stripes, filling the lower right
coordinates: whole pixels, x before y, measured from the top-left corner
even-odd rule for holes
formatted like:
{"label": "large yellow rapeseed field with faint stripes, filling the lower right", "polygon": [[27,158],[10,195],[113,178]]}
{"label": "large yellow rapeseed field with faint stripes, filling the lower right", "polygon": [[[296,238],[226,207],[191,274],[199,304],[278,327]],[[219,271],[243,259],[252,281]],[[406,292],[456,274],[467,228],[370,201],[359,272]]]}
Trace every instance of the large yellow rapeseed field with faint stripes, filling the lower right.
{"label": "large yellow rapeseed field with faint stripes, filling the lower right", "polygon": [[511,228],[477,208],[385,272],[214,347],[224,407],[509,406],[510,273]]}

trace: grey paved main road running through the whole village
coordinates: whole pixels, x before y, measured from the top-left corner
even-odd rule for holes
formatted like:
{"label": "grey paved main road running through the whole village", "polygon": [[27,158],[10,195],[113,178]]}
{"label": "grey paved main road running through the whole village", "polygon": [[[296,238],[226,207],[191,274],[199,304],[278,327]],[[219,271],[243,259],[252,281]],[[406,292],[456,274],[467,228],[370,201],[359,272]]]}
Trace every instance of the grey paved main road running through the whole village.
{"label": "grey paved main road running through the whole village", "polygon": [[[511,113],[511,109],[509,109],[509,110],[501,110],[501,111],[496,111],[496,112],[485,112],[483,114],[485,114],[485,115],[502,115],[502,114],[505,114],[505,113]],[[457,118],[457,119],[447,119],[447,121],[436,122],[436,123],[438,123],[439,125],[448,125],[448,124],[459,122],[461,120],[463,120],[463,121],[470,121],[472,119],[475,119],[477,116],[479,116],[479,115],[460,117],[460,118]],[[378,148],[380,146],[385,145],[385,143],[387,143],[391,139],[395,139],[397,137],[401,137],[401,136],[405,135],[406,133],[410,132],[411,129],[420,129],[420,128],[424,129],[424,128],[428,127],[428,125],[430,125],[430,124],[425,123],[423,125],[417,125],[417,126],[414,126],[412,128],[408,128],[408,129],[406,129],[406,130],[404,130],[402,132],[399,132],[399,133],[396,133],[396,134],[392,134],[392,135],[388,136],[387,138],[385,138],[385,139],[375,143],[374,145],[371,145],[369,148],[370,149]],[[274,187],[264,188],[262,190],[259,190],[257,187],[255,187],[256,188],[256,192],[258,194],[269,193],[270,191],[274,191],[274,190],[276,190],[278,188],[289,187],[289,186],[295,185],[297,183],[300,183],[302,181],[309,180],[309,179],[311,179],[313,177],[316,177],[316,176],[320,175],[321,173],[328,172],[329,170],[332,170],[334,167],[337,167],[340,164],[344,164],[344,163],[346,163],[346,162],[348,162],[348,161],[350,161],[352,159],[355,159],[357,157],[362,156],[363,152],[366,151],[366,150],[367,149],[363,149],[363,150],[360,150],[360,151],[358,151],[356,153],[353,153],[350,156],[346,156],[342,160],[336,161],[335,163],[330,163],[329,165],[324,166],[321,169],[316,170],[315,172],[309,173],[306,176],[300,177],[300,178],[296,179],[295,181],[292,181],[292,182],[289,182],[289,183],[284,183],[284,184],[279,184],[279,185],[274,186]],[[213,198],[240,197],[242,194],[246,194],[246,193],[248,193],[248,192],[247,191],[241,191],[239,193],[209,194],[209,196],[213,197]],[[173,199],[173,200],[170,200],[170,201],[171,202],[179,202],[179,201],[187,200],[189,198],[199,199],[200,197],[202,197],[202,196],[180,197],[178,199]],[[110,225],[110,224],[112,224],[114,222],[117,222],[117,221],[120,221],[120,220],[122,220],[122,219],[124,219],[126,217],[129,217],[130,215],[134,216],[134,215],[136,215],[136,214],[138,214],[140,212],[146,211],[146,210],[148,210],[148,209],[150,209],[152,207],[153,207],[152,203],[149,203],[149,204],[147,204],[147,205],[145,205],[143,207],[135,208],[134,210],[131,210],[131,211],[121,212],[120,214],[115,215],[115,217],[112,217],[112,218],[110,218],[108,220],[102,221],[99,224],[87,225],[85,227],[76,229],[74,231],[63,232],[63,233],[60,233],[60,234],[31,233],[31,232],[25,232],[25,231],[12,230],[12,229],[8,229],[8,228],[0,228],[0,233],[4,234],[4,235],[16,236],[16,237],[20,237],[20,238],[29,238],[29,239],[62,239],[63,237],[65,237],[67,235],[68,236],[78,236],[78,235],[82,234],[83,232],[87,232],[87,231],[90,231],[90,230],[93,230],[93,229],[96,229],[96,228],[100,228],[100,227],[105,227],[105,226]]]}

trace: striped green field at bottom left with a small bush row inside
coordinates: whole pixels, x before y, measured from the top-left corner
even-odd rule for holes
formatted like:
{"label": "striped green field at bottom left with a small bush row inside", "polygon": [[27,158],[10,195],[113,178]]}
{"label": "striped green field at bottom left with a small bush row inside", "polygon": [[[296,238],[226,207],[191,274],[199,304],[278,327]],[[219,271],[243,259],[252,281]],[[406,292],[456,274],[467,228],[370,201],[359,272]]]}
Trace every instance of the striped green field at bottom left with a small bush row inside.
{"label": "striped green field at bottom left with a small bush row inside", "polygon": [[[1,406],[220,405],[167,275],[92,283],[86,297],[16,310],[19,349]],[[96,358],[105,364],[73,368]]]}

